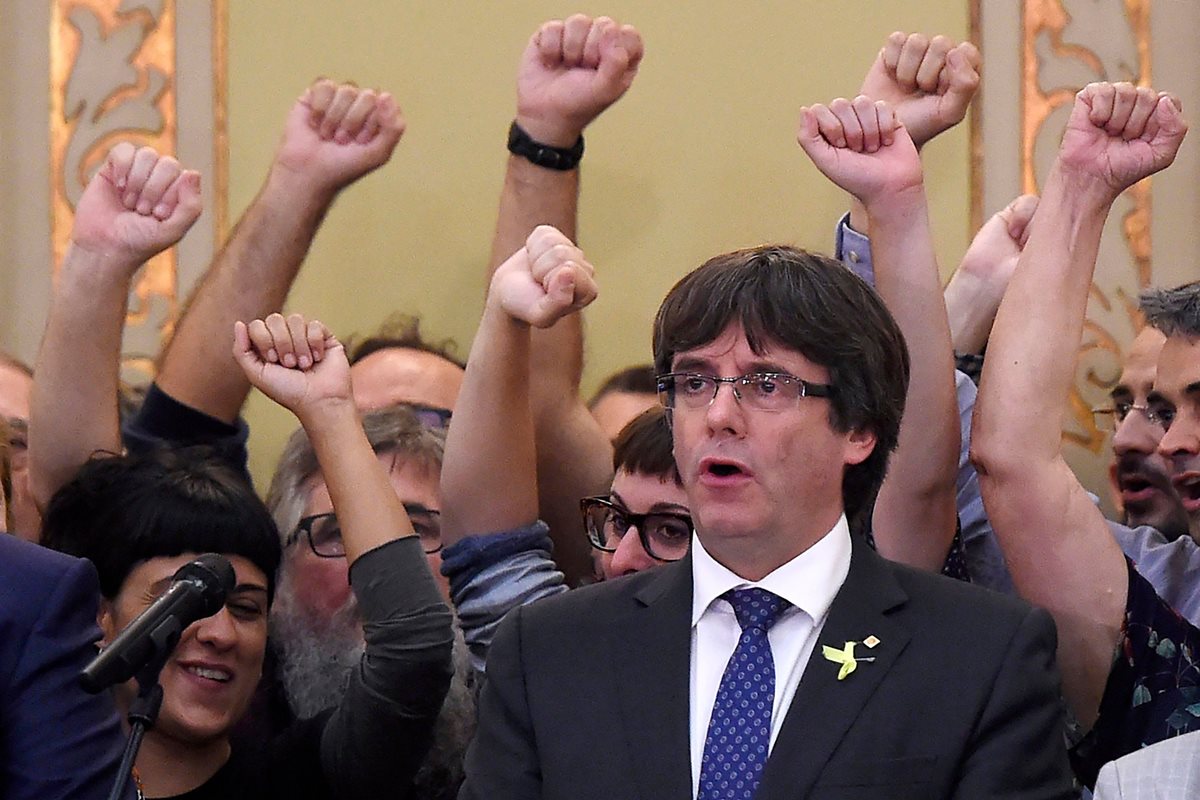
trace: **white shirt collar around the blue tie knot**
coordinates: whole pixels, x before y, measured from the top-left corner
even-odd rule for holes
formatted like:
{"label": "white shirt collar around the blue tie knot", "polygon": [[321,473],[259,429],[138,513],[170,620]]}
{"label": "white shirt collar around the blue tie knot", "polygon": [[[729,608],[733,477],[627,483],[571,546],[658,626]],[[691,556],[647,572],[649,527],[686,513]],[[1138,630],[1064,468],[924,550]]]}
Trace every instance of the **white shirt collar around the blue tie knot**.
{"label": "white shirt collar around the blue tie knot", "polygon": [[746,581],[708,554],[698,536],[691,541],[691,626],[695,627],[713,601],[730,589],[760,587],[775,594],[814,621],[824,618],[850,572],[850,525],[839,517],[833,529],[810,548],[762,581]]}

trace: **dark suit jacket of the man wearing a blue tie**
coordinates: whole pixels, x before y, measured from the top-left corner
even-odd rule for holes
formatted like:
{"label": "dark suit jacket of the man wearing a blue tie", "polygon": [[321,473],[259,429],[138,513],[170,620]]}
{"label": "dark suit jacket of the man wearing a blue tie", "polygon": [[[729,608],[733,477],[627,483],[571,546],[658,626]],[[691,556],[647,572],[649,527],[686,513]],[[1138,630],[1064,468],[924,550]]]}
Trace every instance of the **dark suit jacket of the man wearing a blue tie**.
{"label": "dark suit jacket of the man wearing a blue tie", "polygon": [[[691,561],[514,610],[460,798],[691,796]],[[874,634],[845,680],[822,645]],[[1073,798],[1054,622],[856,539],[758,789],[782,798]]]}

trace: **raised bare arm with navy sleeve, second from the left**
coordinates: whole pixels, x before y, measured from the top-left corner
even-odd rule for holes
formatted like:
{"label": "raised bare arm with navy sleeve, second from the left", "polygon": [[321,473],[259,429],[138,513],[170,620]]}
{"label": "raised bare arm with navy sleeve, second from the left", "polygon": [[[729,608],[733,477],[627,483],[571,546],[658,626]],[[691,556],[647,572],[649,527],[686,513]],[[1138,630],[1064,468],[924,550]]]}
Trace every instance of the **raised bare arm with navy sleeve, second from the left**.
{"label": "raised bare arm with navy sleeve, second from the left", "polygon": [[[338,193],[391,157],[404,119],[388,92],[322,79],[296,100],[266,182],[188,300],[158,386],[233,422],[250,384],[229,357],[235,320],[281,308]],[[203,368],[200,368],[203,365]]]}

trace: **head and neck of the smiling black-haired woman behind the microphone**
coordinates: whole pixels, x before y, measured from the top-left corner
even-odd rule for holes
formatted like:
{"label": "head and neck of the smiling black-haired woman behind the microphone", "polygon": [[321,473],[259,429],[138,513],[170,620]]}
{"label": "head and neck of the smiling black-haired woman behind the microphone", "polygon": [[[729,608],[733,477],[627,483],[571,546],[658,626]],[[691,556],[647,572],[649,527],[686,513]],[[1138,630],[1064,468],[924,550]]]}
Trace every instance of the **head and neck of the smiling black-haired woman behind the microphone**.
{"label": "head and neck of the smiling black-haired woman behind the microphone", "polygon": [[[221,553],[234,566],[236,585],[224,608],[184,631],[160,676],[162,711],[138,769],[164,796],[203,783],[229,758],[229,732],[263,670],[280,563],[265,506],[228,468],[203,456],[95,458],[54,495],[43,527],[48,547],[96,565],[106,642],[197,554]],[[122,710],[134,693],[133,681],[115,688]]]}

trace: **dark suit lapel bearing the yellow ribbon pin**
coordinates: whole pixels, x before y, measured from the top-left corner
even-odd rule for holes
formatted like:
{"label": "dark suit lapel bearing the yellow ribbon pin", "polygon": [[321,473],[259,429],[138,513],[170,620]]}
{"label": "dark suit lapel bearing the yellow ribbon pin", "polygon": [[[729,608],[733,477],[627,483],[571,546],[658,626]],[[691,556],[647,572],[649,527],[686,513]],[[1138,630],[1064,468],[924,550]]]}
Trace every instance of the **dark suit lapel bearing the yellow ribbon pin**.
{"label": "dark suit lapel bearing the yellow ribbon pin", "polygon": [[[808,795],[838,744],[908,643],[910,632],[886,615],[907,596],[882,557],[857,536],[853,547],[850,572],[829,607],[824,628],[817,637],[763,770],[758,800]],[[868,649],[862,642],[872,634],[880,644]],[[840,650],[846,642],[858,642],[854,655],[871,656],[875,661],[859,662],[853,673],[839,681],[839,666],[824,657],[822,648],[829,645]]]}

